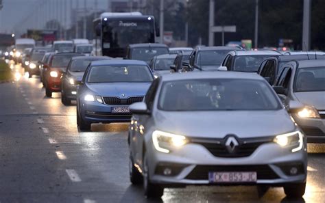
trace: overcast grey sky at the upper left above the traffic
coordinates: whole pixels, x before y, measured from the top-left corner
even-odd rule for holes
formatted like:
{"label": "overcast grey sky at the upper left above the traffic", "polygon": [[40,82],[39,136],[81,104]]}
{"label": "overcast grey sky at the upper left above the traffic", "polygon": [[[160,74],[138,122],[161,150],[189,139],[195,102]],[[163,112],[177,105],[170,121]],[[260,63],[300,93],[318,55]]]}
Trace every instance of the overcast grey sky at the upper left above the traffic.
{"label": "overcast grey sky at the upper left above the traffic", "polygon": [[[64,4],[67,3],[67,5],[72,1],[73,8],[76,7],[76,2],[79,1],[80,8],[84,6],[84,0],[3,0],[3,9],[0,11],[0,32],[12,33],[16,31],[22,33],[27,27],[42,26],[47,21],[47,18],[57,18],[58,12],[55,9],[57,7],[57,1]],[[95,1],[86,0],[89,10],[94,9]],[[100,10],[106,10],[108,8],[108,0],[97,0],[97,3],[97,8]],[[41,7],[40,5],[42,4],[43,6]],[[38,8],[43,8],[43,12],[40,12]],[[67,21],[64,21],[63,16],[60,18],[60,21],[64,21],[69,26],[69,10],[67,16]]]}

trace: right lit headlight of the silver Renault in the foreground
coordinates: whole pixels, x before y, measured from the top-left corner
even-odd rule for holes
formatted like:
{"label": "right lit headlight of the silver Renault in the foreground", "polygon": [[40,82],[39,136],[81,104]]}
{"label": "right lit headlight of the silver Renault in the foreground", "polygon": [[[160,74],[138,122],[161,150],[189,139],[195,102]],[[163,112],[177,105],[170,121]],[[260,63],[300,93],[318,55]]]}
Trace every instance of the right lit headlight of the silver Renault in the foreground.
{"label": "right lit headlight of the silver Renault in the foreground", "polygon": [[298,152],[304,145],[304,135],[300,131],[278,135],[274,142],[283,148],[293,147],[291,152]]}

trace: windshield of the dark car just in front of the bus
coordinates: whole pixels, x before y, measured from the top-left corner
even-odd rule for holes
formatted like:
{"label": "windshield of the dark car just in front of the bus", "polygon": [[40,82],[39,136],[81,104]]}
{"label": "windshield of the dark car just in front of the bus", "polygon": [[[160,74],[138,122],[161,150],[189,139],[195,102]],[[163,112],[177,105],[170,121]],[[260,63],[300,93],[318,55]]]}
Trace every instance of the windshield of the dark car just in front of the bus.
{"label": "windshield of the dark car just in front of the bus", "polygon": [[132,59],[149,62],[156,55],[163,55],[168,53],[168,49],[164,47],[134,48],[132,51]]}

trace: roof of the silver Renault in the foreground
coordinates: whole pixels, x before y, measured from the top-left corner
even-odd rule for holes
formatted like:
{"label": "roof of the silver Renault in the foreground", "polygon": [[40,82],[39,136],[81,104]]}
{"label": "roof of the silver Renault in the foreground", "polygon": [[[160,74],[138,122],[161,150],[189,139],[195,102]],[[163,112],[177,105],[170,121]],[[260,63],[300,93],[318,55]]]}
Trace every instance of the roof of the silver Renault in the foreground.
{"label": "roof of the silver Renault in the foreground", "polygon": [[186,74],[167,74],[161,75],[162,81],[179,81],[191,79],[256,79],[263,81],[263,77],[252,72],[234,72],[234,71],[203,71],[187,72]]}

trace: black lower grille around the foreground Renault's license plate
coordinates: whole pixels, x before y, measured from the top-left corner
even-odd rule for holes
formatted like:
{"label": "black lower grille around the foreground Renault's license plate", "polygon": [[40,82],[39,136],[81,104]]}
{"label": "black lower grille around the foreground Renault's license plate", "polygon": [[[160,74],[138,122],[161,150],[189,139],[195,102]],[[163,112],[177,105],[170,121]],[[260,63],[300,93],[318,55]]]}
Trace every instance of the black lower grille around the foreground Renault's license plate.
{"label": "black lower grille around the foreground Renault's license plate", "polygon": [[268,165],[197,165],[186,179],[208,180],[209,172],[256,172],[258,180],[279,178]]}

